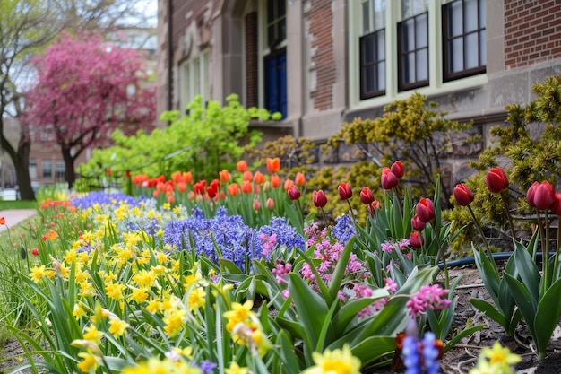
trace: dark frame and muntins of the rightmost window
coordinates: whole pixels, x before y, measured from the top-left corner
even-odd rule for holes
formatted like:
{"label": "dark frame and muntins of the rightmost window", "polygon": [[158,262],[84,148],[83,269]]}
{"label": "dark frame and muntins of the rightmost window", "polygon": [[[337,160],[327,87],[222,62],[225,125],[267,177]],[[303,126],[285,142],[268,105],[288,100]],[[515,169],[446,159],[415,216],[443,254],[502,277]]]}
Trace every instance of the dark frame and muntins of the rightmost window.
{"label": "dark frame and muntins of the rightmost window", "polygon": [[[453,35],[450,36],[449,34],[449,26],[450,26],[450,17],[449,14],[447,12],[448,8],[452,7],[452,4],[454,3],[462,3],[462,34],[459,35]],[[487,48],[487,43],[485,46],[481,46],[481,33],[482,32],[487,32],[487,25],[483,25],[481,26],[481,9],[483,8],[483,10],[486,12],[485,8],[485,4],[481,4],[484,3],[484,0],[476,0],[477,6],[478,6],[478,27],[475,30],[470,30],[467,31],[465,30],[465,17],[466,17],[466,7],[465,7],[465,0],[453,0],[450,1],[448,3],[442,4],[441,7],[441,14],[442,14],[442,50],[443,50],[443,54],[442,54],[442,78],[443,78],[443,82],[450,82],[450,81],[454,81],[457,79],[461,79],[461,78],[466,78],[466,77],[470,77],[472,75],[476,75],[476,74],[484,74],[487,72],[487,53],[485,54],[485,62],[483,65],[481,65],[482,61],[481,61],[481,55],[482,55],[482,50],[483,48]],[[483,6],[481,6],[483,5]],[[487,14],[486,14],[486,19],[487,19]],[[487,21],[487,20],[486,20]],[[471,67],[471,68],[465,68],[466,65],[466,59],[467,59],[467,53],[469,52],[469,49],[466,47],[466,45],[468,44],[466,42],[466,38],[469,35],[472,34],[476,34],[477,35],[477,46],[478,46],[478,66],[476,67]],[[453,39],[462,39],[462,57],[463,57],[463,61],[462,61],[462,65],[464,66],[464,68],[461,71],[458,72],[450,72],[450,64],[453,63],[453,60],[451,60],[451,57],[453,57],[453,54],[450,52],[450,41]],[[485,39],[487,41],[487,39]]]}

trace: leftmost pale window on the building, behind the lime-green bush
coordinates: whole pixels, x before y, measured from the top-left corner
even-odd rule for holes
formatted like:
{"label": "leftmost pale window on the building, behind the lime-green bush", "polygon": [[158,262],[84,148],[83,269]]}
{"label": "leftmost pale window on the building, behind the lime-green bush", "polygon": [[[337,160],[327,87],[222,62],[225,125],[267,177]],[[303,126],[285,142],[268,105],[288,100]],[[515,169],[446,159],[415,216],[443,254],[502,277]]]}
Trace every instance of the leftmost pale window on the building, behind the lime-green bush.
{"label": "leftmost pale window on the building, behind the lime-green bush", "polygon": [[179,66],[179,105],[186,110],[187,104],[196,95],[203,96],[203,102],[210,99],[209,55],[203,51],[199,56],[191,58]]}

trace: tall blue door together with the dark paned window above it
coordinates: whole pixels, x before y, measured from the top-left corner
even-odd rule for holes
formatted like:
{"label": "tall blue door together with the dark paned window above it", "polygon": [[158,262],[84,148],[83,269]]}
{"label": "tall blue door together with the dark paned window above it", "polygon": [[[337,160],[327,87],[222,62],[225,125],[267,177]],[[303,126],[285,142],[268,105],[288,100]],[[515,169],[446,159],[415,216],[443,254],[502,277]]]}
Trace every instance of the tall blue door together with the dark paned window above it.
{"label": "tall blue door together with the dark paned window above it", "polygon": [[287,117],[286,0],[265,2],[264,107]]}

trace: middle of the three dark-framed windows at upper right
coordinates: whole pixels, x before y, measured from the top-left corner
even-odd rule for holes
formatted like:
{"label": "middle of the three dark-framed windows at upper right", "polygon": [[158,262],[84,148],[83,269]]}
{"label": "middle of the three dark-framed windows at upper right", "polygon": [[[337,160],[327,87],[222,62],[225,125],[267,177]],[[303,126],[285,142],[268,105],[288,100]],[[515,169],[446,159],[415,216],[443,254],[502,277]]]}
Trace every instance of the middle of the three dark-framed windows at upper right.
{"label": "middle of the three dark-framed windows at upper right", "polygon": [[400,91],[428,84],[428,13],[398,23],[398,86]]}

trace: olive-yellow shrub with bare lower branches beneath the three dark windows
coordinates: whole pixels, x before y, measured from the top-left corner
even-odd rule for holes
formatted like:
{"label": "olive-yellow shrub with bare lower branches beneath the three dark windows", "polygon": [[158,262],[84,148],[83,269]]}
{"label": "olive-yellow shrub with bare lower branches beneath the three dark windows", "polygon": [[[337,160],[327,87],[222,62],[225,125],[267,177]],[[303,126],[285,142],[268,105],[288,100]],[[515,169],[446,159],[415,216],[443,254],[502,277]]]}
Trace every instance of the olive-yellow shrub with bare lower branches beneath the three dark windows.
{"label": "olive-yellow shrub with bare lower branches beneath the three dark windows", "polygon": [[[443,173],[441,160],[451,151],[453,138],[471,126],[447,119],[447,113],[436,107],[436,103],[427,103],[427,97],[416,92],[407,100],[387,105],[382,117],[355,118],[327,145],[336,148],[341,140],[356,144],[378,168],[401,160],[415,196],[430,196],[437,176]],[[475,140],[477,137],[472,136],[468,142]],[[445,202],[452,191],[443,186],[442,193]]]}

